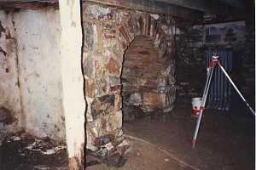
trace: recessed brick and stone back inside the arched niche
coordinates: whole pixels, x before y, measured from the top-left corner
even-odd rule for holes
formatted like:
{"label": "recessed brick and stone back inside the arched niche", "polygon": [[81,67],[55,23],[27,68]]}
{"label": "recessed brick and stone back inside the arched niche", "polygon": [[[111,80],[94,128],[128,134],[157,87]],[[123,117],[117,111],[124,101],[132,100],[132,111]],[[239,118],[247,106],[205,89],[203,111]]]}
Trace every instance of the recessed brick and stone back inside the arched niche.
{"label": "recessed brick and stone back inside the arched niche", "polygon": [[124,121],[149,114],[159,119],[170,111],[173,75],[168,59],[149,36],[135,37],[125,50],[121,74]]}

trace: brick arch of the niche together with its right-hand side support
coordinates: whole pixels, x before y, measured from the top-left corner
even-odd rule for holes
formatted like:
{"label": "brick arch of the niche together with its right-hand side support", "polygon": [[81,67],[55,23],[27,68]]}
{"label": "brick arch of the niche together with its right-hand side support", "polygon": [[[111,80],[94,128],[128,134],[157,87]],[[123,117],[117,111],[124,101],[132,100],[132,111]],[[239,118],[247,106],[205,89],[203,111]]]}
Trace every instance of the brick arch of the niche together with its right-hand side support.
{"label": "brick arch of the niche together with its right-hand side support", "polygon": [[119,23],[118,41],[125,50],[137,36],[151,37],[154,46],[159,49],[160,58],[166,59],[166,82],[160,84],[165,90],[164,111],[171,111],[176,96],[175,60],[174,60],[174,20],[172,17],[148,13],[133,13]]}

